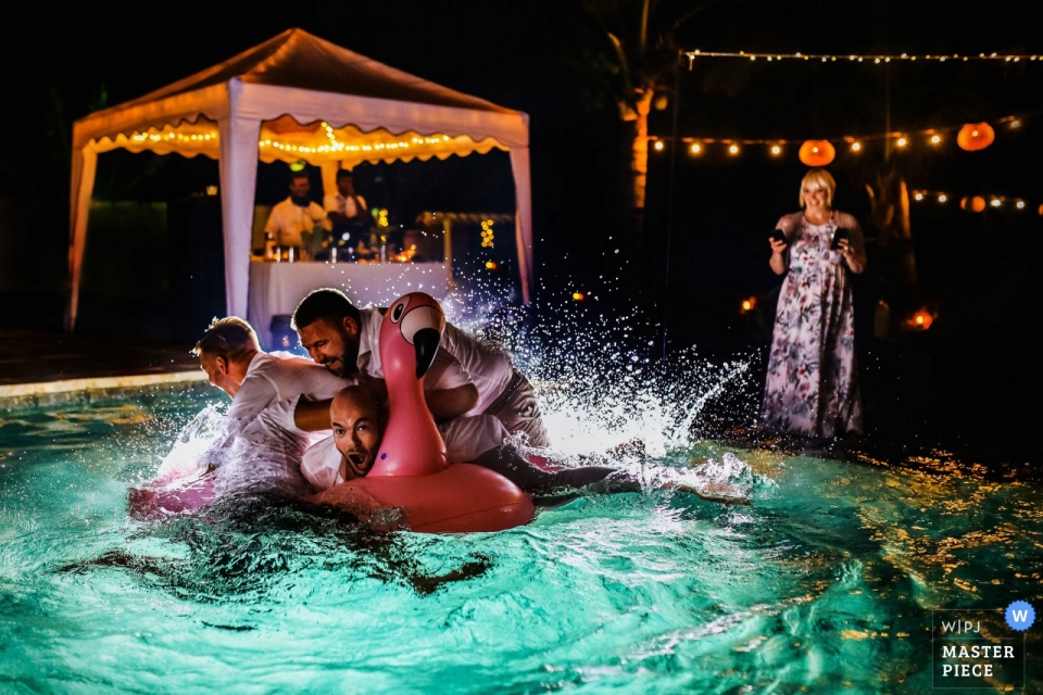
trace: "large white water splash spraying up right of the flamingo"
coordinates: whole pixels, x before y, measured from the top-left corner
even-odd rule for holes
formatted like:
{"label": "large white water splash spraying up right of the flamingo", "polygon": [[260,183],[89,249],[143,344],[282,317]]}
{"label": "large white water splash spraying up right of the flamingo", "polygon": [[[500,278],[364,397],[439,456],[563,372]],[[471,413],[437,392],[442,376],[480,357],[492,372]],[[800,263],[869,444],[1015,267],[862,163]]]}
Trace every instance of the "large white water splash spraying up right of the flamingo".
{"label": "large white water splash spraying up right of the flamingo", "polygon": [[[754,355],[724,364],[692,348],[667,359],[657,352],[657,326],[636,305],[538,301],[519,307],[497,302],[481,288],[468,295],[481,311],[450,303],[447,315],[480,341],[505,350],[537,384],[554,452],[566,457],[605,452],[640,441],[662,458],[691,442],[715,414],[749,425]],[[720,414],[724,413],[721,416]]]}

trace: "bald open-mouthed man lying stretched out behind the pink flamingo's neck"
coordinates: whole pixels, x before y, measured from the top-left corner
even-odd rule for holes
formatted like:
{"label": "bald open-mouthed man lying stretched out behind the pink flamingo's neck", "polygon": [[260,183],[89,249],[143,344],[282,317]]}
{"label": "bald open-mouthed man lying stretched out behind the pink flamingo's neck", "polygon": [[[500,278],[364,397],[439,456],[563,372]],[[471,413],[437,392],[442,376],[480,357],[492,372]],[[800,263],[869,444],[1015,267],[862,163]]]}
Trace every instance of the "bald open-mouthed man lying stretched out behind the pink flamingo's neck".
{"label": "bald open-mouthed man lying stretched out behind the pink flamingo's neck", "polygon": [[[304,413],[307,408],[322,407],[322,404],[301,404],[298,406],[297,420],[304,424],[314,414]],[[387,416],[377,404],[373,394],[364,387],[348,387],[334,396],[329,405],[329,421],[334,431],[334,444],[340,452],[340,465],[329,465],[328,457],[305,455],[301,472],[319,491],[314,502],[323,503],[325,491],[369,472],[380,448]],[[470,462],[499,472],[522,490],[532,494],[550,494],[589,486],[595,492],[642,492],[642,480],[634,473],[607,466],[581,466],[548,471],[530,464],[516,450],[503,447],[503,441],[510,437],[503,424],[486,415],[463,418],[468,421],[468,437],[475,446],[487,452]],[[656,467],[653,475],[642,476],[646,483],[658,489],[682,490],[716,502],[740,502],[734,491],[717,485],[707,489],[689,479],[689,471],[678,471]]]}

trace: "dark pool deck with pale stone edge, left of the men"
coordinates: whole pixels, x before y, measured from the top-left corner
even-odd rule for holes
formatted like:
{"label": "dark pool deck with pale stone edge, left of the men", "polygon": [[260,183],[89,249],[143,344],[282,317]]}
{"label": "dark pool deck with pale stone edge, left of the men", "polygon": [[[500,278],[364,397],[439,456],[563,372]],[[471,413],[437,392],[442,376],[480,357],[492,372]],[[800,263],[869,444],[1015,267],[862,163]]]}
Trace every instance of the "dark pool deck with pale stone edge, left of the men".
{"label": "dark pool deck with pale stone edge, left of the men", "polygon": [[190,349],[0,329],[0,410],[205,386]]}

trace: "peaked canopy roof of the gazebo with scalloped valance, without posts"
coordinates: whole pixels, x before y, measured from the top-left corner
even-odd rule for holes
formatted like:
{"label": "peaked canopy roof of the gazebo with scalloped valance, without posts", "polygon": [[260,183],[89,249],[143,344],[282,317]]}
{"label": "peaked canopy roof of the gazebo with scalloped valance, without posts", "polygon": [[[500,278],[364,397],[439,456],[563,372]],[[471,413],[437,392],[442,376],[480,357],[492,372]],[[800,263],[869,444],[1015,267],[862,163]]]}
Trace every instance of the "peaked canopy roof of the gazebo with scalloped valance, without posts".
{"label": "peaked canopy roof of the gazebo with scalloped valance, without posts", "polygon": [[[247,110],[260,112],[253,115],[262,119],[257,146],[264,162],[305,160],[351,167],[528,144],[525,114],[384,65],[302,29],[288,29],[213,67],[77,121],[75,144],[98,152],[124,148],[217,157],[217,121],[228,115],[233,81],[242,85],[243,101],[252,102],[244,104]],[[325,97],[314,114],[299,108],[306,92]],[[280,109],[284,96],[286,105]],[[350,108],[338,109],[334,96],[350,99]],[[389,113],[392,102],[399,106]]]}

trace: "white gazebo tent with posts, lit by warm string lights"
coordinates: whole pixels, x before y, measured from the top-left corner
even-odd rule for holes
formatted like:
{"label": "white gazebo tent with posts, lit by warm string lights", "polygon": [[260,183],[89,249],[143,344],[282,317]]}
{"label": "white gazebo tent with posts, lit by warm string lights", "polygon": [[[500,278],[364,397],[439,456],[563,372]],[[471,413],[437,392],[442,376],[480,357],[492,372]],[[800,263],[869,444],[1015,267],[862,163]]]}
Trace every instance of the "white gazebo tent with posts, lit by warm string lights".
{"label": "white gazebo tent with posts, lit by warm string lights", "polygon": [[528,115],[289,29],[235,58],[73,126],[70,302],[76,323],[98,153],[117,148],[217,159],[229,315],[247,316],[257,160],[338,168],[362,162],[511,155],[523,300],[532,285]]}

